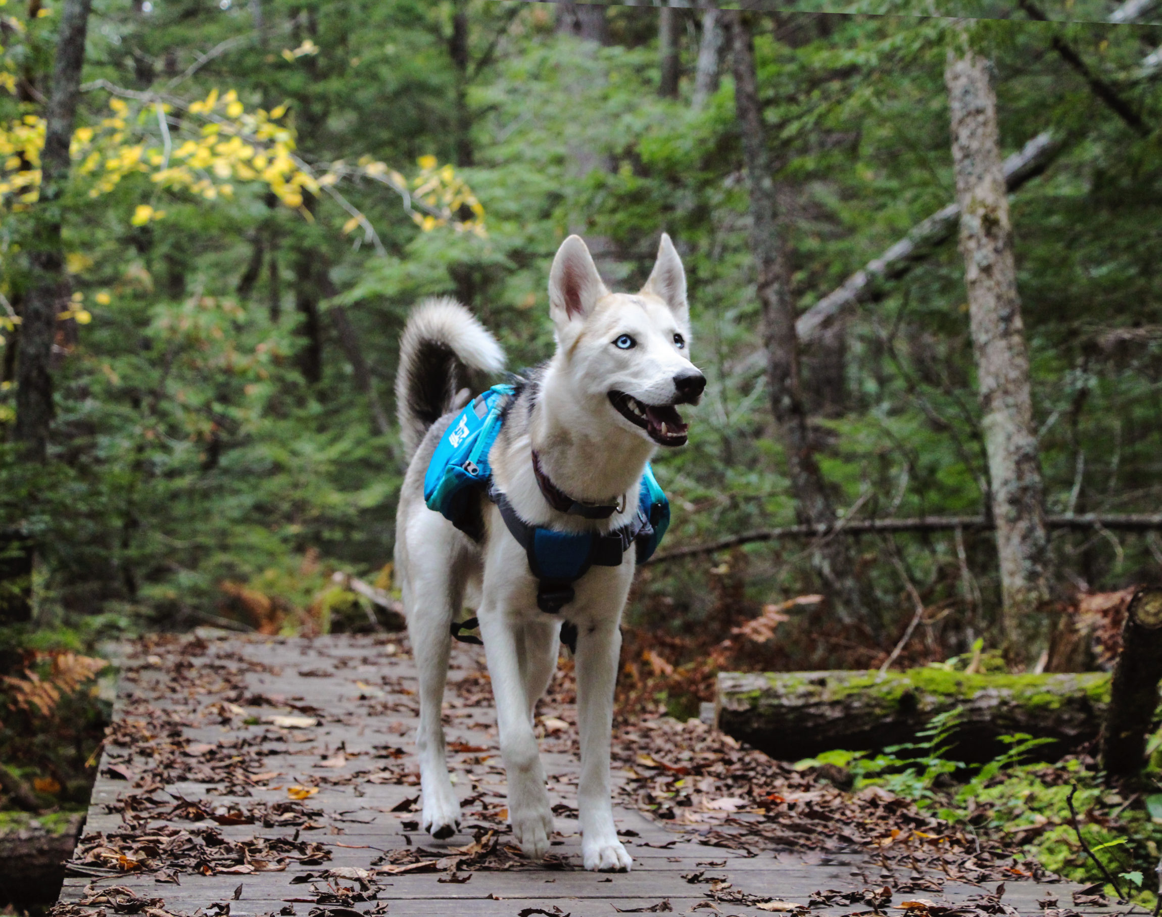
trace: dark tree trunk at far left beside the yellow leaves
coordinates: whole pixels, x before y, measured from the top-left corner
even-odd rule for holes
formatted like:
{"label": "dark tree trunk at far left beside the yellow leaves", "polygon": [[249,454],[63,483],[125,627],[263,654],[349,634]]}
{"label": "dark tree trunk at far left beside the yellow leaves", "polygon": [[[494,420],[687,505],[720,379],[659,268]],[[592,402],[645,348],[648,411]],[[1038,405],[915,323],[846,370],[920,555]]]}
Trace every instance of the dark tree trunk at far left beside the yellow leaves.
{"label": "dark tree trunk at far left beside the yellow leaves", "polygon": [[41,196],[33,207],[28,239],[31,282],[24,296],[16,367],[15,437],[33,461],[44,461],[52,422],[50,360],[57,314],[67,300],[60,225],[69,182],[69,144],[77,117],[80,71],[85,63],[85,34],[92,0],[64,0],[60,31],[52,65],[52,91],[45,113],[41,153]]}

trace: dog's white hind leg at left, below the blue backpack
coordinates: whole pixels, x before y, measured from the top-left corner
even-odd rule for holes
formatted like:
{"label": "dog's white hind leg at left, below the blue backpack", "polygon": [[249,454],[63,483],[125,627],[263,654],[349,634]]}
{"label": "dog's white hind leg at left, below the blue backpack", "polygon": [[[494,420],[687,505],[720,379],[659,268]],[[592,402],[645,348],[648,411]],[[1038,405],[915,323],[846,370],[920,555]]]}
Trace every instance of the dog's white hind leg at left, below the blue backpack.
{"label": "dog's white hind leg at left, below the blue backpack", "polygon": [[[431,552],[416,564],[404,588],[408,635],[419,676],[419,781],[423,793],[423,828],[435,838],[449,838],[460,826],[460,802],[447,773],[440,711],[447,681],[451,624],[459,608],[462,578],[446,557]],[[440,568],[440,564],[444,564]]]}

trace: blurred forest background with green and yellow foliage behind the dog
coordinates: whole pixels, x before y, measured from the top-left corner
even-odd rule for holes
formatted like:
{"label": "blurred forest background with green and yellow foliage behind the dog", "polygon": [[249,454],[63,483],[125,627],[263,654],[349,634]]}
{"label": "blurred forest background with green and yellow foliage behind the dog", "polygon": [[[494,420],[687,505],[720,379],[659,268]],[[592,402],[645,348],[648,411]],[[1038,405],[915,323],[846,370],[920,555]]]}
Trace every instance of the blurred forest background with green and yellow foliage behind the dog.
{"label": "blurred forest background with green and yellow foliage behind the dog", "polygon": [[[689,445],[655,461],[674,522],[627,611],[626,683],[669,679],[689,715],[726,666],[868,668],[896,649],[899,665],[1005,667],[964,259],[942,209],[956,199],[951,21],[747,17],[748,134],[730,23],[712,10],[95,0],[58,202],[55,418],[36,453],[17,435],[17,353],[65,6],[0,9],[5,674],[48,678],[65,651],[123,632],[371,626],[375,606],[332,574],[392,588],[409,308],[457,296],[512,368],[531,365],[552,349],[561,239],[583,235],[607,282],[636,288],[664,230],[710,385]],[[1133,21],[1121,9],[1113,21]],[[970,37],[1002,153],[1024,156],[1009,180],[1017,289],[1040,511],[1059,522],[1052,602],[1007,659],[1068,669],[1095,661],[1061,649],[1059,621],[1162,572],[1149,524],[1069,523],[1162,510],[1162,27],[1038,22],[1031,2],[1010,14]],[[769,165],[795,313],[842,307],[827,324],[801,317],[792,342],[822,515],[789,471],[795,423],[772,410],[754,163]],[[842,294],[905,238],[906,257]],[[665,554],[948,517],[963,523]],[[3,715],[10,740],[34,707]],[[80,764],[53,753],[60,774]]]}

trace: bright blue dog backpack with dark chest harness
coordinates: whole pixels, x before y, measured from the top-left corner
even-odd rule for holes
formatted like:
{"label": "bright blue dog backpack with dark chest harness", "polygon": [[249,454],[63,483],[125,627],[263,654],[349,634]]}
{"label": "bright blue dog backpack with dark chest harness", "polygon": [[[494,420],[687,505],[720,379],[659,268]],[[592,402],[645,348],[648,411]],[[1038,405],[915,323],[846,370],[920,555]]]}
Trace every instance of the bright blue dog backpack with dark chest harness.
{"label": "bright blue dog backpack with dark chest harness", "polygon": [[639,564],[650,559],[669,526],[669,501],[646,465],[631,522],[601,535],[562,532],[524,522],[504,494],[492,487],[488,453],[515,393],[497,385],[474,397],[449,424],[424,474],[424,502],[474,540],[483,535],[481,496],[501,510],[512,537],[525,549],[529,569],[539,581],[537,604],[555,614],[573,600],[573,582],[594,564],[616,567],[631,546]]}

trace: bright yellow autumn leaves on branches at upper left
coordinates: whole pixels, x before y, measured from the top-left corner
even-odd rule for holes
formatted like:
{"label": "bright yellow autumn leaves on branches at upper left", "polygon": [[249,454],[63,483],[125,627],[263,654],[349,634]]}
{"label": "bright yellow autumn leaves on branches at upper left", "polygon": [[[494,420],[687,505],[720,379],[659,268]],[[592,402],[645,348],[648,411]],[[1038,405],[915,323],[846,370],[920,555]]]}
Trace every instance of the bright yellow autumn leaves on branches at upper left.
{"label": "bright yellow autumn leaves on branches at upper left", "polygon": [[[174,115],[175,107],[186,114]],[[235,182],[260,181],[284,205],[311,218],[303,209],[304,195],[325,188],[351,217],[343,227],[347,234],[360,225],[368,230],[370,224],[333,186],[358,177],[400,194],[424,231],[451,225],[485,235],[480,201],[452,166],[440,166],[433,156],[421,157],[419,174],[410,182],[371,157],[353,166],[332,163],[316,177],[316,170],[295,153],[294,129],[281,123],[286,106],[248,112],[234,89],[221,95],[214,89],[188,105],[146,98],[131,107],[115,96],[109,109],[96,124],[78,128],[70,149],[77,175],[89,182],[91,198],[108,194],[137,173],[148,174],[159,189],[185,191],[205,200],[232,198]],[[44,120],[36,115],[0,126],[0,213],[27,209],[37,200],[43,146]],[[165,210],[153,203],[139,203],[130,222],[145,225],[164,216]]]}

